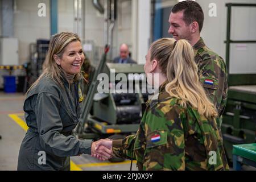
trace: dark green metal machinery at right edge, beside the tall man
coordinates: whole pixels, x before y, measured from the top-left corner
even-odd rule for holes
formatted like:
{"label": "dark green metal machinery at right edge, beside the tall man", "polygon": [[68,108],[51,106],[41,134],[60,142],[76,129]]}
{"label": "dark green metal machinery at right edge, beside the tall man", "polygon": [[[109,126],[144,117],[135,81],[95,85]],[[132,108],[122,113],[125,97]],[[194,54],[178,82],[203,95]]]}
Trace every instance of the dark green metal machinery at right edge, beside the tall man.
{"label": "dark green metal machinery at right edge, beside the tall man", "polygon": [[222,133],[230,161],[233,145],[256,142],[255,80],[256,75],[229,76],[229,96],[223,115]]}

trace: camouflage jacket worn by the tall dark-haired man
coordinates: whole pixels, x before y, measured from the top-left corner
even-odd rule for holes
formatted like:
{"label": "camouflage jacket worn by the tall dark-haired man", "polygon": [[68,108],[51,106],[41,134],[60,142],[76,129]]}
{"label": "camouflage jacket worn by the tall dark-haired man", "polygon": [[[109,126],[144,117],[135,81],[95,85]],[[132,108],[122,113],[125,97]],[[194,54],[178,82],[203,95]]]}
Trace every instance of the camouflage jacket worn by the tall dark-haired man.
{"label": "camouflage jacket worn by the tall dark-haired man", "polygon": [[207,96],[216,105],[220,117],[217,119],[217,125],[220,129],[222,114],[228,96],[228,71],[226,64],[222,57],[205,46],[202,38],[193,48],[195,51],[195,61],[199,68],[200,82]]}

